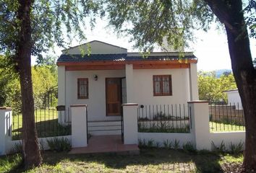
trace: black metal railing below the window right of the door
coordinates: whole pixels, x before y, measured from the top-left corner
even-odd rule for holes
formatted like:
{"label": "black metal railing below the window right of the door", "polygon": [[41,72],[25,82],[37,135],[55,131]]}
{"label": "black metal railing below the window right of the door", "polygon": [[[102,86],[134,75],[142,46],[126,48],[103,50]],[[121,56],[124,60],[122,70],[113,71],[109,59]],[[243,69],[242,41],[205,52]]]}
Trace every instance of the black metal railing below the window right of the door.
{"label": "black metal railing below the window right of the door", "polygon": [[187,104],[140,105],[138,131],[144,133],[189,133],[191,116]]}

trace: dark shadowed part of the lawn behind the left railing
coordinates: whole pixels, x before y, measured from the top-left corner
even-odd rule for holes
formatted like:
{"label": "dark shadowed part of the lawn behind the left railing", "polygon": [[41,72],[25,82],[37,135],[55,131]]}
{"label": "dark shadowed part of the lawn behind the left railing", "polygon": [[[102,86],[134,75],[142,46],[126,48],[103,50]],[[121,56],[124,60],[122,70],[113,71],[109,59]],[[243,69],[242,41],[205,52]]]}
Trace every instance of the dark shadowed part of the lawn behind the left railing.
{"label": "dark shadowed part of the lawn behind the left railing", "polygon": [[[71,135],[71,125],[60,125],[58,119],[40,121],[35,123],[35,127],[38,132],[38,138]],[[22,128],[12,130],[12,140],[19,139],[22,139]]]}

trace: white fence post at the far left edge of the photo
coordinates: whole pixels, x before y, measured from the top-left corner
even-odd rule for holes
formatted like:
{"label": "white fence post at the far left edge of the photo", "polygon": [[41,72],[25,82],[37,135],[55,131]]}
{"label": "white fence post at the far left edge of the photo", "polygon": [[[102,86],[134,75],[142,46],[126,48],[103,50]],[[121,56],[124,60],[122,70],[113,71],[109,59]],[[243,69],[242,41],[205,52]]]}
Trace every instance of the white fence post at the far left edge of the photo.
{"label": "white fence post at the far left edge of the photo", "polygon": [[0,107],[0,156],[7,154],[12,141],[12,108]]}

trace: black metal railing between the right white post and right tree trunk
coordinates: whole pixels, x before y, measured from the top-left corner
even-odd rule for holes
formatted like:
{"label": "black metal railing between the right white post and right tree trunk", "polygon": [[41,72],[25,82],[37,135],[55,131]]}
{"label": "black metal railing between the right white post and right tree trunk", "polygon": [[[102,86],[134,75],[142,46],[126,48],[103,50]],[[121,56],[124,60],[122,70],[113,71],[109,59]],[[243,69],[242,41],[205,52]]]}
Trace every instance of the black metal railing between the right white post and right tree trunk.
{"label": "black metal railing between the right white post and right tree trunk", "polygon": [[210,131],[242,131],[245,130],[244,110],[239,103],[224,105],[210,104]]}

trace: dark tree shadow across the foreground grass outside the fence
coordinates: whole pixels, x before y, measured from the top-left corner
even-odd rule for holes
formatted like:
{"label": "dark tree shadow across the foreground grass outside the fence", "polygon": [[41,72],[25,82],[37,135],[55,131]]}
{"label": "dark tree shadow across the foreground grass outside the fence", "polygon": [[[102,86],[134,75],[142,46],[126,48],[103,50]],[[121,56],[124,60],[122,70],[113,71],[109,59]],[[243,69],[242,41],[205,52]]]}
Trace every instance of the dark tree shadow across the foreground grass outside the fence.
{"label": "dark tree shadow across the foreground grass outside the fence", "polygon": [[[119,154],[67,154],[46,152],[43,154],[44,164],[56,165],[61,161],[87,162],[104,164],[110,169],[125,169],[127,166],[146,165],[184,165],[195,163],[196,172],[223,172],[218,163],[221,157],[213,153],[190,154],[182,150],[163,148],[141,149],[138,156]],[[183,167],[183,166],[182,166]]]}

